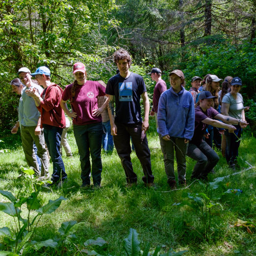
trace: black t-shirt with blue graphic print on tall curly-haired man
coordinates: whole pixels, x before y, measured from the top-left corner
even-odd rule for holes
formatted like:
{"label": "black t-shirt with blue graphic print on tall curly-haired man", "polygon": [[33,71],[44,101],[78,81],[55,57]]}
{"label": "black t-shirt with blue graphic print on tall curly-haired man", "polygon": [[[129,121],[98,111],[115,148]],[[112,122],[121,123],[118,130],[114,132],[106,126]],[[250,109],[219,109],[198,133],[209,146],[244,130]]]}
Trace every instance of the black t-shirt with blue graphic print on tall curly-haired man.
{"label": "black t-shirt with blue graphic print on tall curly-haired man", "polygon": [[109,79],[105,93],[115,96],[116,122],[125,124],[142,122],[140,95],[144,92],[146,92],[145,82],[138,74],[131,72],[126,78],[117,74]]}

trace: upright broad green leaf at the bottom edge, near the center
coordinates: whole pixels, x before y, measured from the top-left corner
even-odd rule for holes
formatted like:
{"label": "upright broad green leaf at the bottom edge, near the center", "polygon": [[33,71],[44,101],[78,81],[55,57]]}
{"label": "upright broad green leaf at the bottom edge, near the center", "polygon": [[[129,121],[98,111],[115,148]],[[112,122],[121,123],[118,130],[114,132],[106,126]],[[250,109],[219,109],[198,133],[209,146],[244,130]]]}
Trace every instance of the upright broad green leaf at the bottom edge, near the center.
{"label": "upright broad green leaf at the bottom edge, near the center", "polygon": [[140,242],[138,240],[138,233],[135,229],[130,228],[127,238],[123,240],[124,250],[127,256],[138,256],[140,253]]}

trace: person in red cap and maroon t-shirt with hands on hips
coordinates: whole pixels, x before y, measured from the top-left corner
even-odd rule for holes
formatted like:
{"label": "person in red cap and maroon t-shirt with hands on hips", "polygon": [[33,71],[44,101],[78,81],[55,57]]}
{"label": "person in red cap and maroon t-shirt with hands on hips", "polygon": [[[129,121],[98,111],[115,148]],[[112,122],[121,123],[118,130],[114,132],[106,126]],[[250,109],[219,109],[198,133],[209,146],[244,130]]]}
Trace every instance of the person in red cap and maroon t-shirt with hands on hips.
{"label": "person in red cap and maroon t-shirt with hands on hips", "polygon": [[[87,80],[86,67],[77,62],[73,67],[75,81],[63,92],[61,108],[73,119],[74,136],[81,162],[81,187],[90,186],[92,172],[94,187],[101,183],[101,140],[103,135],[101,112],[106,108],[107,100],[98,108],[97,98],[105,95],[105,88],[97,81]],[[70,100],[72,111],[68,109]],[[92,158],[92,169],[90,163]]]}

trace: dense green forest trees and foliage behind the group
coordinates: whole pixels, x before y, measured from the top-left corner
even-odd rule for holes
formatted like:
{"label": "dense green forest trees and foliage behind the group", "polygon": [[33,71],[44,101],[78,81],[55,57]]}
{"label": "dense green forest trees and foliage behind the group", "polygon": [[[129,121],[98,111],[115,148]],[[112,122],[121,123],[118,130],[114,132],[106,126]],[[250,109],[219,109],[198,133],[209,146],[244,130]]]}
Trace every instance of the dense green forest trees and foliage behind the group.
{"label": "dense green forest trees and foliage behind the group", "polygon": [[[239,76],[249,122],[255,125],[255,0],[15,0],[0,3],[0,126],[17,119],[18,97],[10,81],[21,67],[48,66],[54,82],[73,81],[72,66],[86,64],[92,80],[115,74],[113,53],[125,48],[133,68],[146,77],[152,67],[164,74]],[[167,75],[163,78],[168,80]],[[149,94],[154,83],[146,79]]]}

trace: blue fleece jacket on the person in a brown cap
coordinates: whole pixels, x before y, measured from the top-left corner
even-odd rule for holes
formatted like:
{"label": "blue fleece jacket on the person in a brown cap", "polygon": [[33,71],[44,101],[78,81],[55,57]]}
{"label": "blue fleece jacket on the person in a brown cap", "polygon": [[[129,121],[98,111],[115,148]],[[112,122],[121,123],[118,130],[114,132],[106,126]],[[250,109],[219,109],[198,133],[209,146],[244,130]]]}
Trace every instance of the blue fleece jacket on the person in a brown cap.
{"label": "blue fleece jacket on the person in a brown cap", "polygon": [[191,140],[195,129],[195,107],[192,95],[181,87],[177,94],[171,87],[163,92],[158,103],[157,132],[163,137]]}

